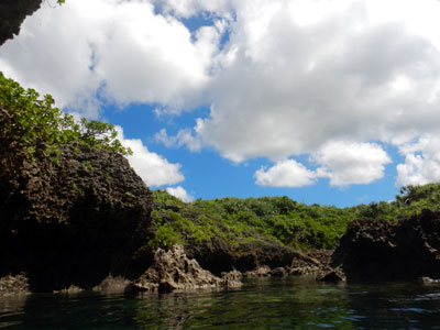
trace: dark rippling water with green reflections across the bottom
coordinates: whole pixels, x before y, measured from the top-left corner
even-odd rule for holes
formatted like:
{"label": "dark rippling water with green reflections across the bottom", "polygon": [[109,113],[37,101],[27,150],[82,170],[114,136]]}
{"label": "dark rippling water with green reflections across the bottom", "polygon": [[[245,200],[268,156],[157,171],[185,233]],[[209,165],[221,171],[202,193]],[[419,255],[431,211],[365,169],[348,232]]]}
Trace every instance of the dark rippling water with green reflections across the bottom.
{"label": "dark rippling water with green reflections across the bottom", "polygon": [[0,297],[0,329],[440,329],[440,286],[252,280],[186,294]]}

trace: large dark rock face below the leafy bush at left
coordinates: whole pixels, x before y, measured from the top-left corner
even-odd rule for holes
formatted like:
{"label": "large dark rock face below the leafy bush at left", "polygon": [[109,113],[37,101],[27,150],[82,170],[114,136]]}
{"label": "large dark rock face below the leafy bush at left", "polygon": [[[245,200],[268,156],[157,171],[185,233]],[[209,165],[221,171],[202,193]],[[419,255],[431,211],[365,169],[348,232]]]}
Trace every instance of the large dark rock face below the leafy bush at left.
{"label": "large dark rock face below the leafy bush at left", "polygon": [[47,292],[138,276],[152,204],[116,153],[72,144],[56,162],[32,162],[0,148],[0,277],[24,272],[32,290]]}

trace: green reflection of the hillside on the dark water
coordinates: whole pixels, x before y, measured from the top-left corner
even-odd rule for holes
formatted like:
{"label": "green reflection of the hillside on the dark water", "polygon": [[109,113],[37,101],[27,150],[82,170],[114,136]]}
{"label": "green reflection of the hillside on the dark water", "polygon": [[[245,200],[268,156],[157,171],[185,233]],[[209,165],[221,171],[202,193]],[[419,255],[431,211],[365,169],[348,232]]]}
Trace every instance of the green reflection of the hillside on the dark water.
{"label": "green reflection of the hillside on the dark water", "polygon": [[262,279],[227,294],[144,299],[135,321],[140,329],[353,329],[358,316],[343,290],[296,279]]}

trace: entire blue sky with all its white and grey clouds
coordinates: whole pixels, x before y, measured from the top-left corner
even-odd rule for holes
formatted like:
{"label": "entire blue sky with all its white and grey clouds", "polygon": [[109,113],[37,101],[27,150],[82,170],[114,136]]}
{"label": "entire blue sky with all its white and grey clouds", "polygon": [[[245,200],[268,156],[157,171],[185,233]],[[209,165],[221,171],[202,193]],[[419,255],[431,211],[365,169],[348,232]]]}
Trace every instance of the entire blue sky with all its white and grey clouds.
{"label": "entire blue sky with all its white and grey clouds", "polygon": [[152,189],[348,207],[440,180],[438,0],[55,2],[0,70],[116,124]]}

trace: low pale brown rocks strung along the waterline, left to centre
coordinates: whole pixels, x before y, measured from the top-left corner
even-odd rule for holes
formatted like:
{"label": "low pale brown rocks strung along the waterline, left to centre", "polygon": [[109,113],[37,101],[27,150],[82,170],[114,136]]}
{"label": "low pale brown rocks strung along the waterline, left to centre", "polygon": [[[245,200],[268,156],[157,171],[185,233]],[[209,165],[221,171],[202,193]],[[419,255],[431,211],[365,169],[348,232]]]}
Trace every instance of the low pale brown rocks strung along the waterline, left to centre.
{"label": "low pale brown rocks strung along the waterline, left to centre", "polygon": [[[232,270],[222,272],[220,276],[200,267],[194,258],[188,258],[184,246],[174,245],[168,251],[157,249],[153,264],[138,278],[128,279],[124,277],[107,276],[100,284],[92,288],[70,285],[55,289],[55,294],[77,294],[87,289],[95,292],[179,292],[197,290],[209,288],[231,288],[243,285],[243,278],[258,277],[286,277],[306,274],[316,274],[327,270],[330,262],[331,251],[314,252],[309,262],[293,260],[289,266],[271,268],[267,265],[260,265],[255,270],[240,272]],[[33,293],[25,273],[7,275],[0,277],[0,296],[20,295]]]}

